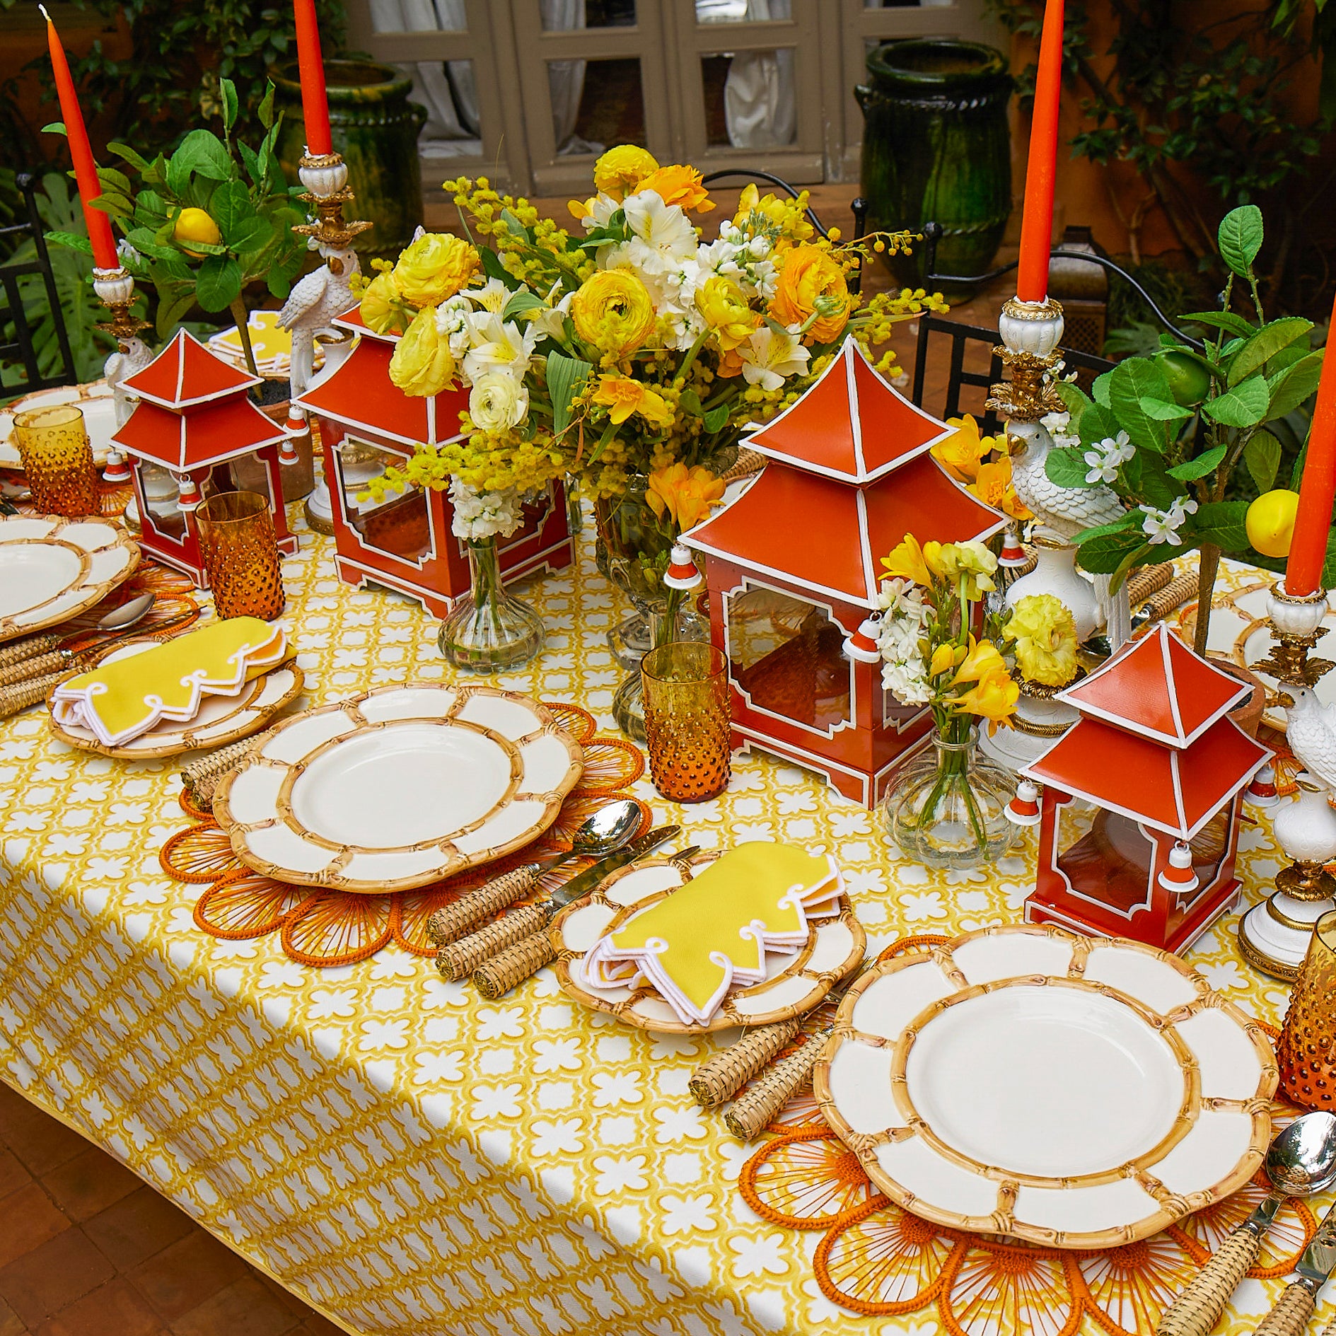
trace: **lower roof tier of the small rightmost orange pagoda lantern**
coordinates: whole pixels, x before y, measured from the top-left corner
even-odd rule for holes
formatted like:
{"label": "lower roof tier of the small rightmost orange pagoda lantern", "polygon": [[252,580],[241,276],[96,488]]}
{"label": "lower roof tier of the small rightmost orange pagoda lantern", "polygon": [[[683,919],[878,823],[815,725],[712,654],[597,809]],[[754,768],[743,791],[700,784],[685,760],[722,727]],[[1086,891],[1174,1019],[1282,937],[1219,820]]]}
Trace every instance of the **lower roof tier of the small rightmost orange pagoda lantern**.
{"label": "lower roof tier of the small rightmost orange pagoda lantern", "polygon": [[1181,748],[1082,719],[1021,774],[1189,840],[1269,758],[1232,719]]}

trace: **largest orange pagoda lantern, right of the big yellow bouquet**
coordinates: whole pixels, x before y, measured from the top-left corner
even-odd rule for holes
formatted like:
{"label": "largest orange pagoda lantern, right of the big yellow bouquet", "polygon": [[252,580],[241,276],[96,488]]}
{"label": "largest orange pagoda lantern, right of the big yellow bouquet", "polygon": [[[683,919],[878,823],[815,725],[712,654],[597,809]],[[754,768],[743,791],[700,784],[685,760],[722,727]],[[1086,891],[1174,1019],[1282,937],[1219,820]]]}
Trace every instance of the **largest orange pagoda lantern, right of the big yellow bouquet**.
{"label": "largest orange pagoda lantern, right of the big yellow bouquet", "polygon": [[683,536],[705,556],[733,745],[807,766],[868,807],[931,727],[926,707],[882,687],[859,629],[876,609],[880,558],[906,533],[959,542],[1006,524],[929,453],[951,430],[847,339],[807,393],[747,440],[771,462]]}

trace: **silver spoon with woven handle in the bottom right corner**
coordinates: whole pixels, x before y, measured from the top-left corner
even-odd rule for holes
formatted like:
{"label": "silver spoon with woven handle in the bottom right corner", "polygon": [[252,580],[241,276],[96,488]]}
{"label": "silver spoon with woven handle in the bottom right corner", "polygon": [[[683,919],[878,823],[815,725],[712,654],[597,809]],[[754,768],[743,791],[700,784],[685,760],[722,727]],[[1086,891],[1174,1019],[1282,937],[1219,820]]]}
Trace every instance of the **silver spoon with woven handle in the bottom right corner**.
{"label": "silver spoon with woven handle in the bottom right corner", "polygon": [[1263,1168],[1271,1193],[1169,1305],[1156,1336],[1209,1336],[1238,1281],[1257,1261],[1263,1234],[1285,1197],[1309,1197],[1336,1182],[1336,1114],[1296,1118],[1272,1141]]}

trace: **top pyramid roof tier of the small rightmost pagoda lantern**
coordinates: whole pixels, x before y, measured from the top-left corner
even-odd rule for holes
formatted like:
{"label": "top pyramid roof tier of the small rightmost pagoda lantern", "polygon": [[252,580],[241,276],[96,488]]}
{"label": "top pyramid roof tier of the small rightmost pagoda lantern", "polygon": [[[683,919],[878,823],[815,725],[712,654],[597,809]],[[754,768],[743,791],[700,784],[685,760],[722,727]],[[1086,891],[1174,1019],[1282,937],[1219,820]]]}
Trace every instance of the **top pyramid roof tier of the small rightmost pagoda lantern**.
{"label": "top pyramid roof tier of the small rightmost pagoda lantern", "polygon": [[1188,747],[1250,689],[1161,623],[1057,699],[1152,741]]}

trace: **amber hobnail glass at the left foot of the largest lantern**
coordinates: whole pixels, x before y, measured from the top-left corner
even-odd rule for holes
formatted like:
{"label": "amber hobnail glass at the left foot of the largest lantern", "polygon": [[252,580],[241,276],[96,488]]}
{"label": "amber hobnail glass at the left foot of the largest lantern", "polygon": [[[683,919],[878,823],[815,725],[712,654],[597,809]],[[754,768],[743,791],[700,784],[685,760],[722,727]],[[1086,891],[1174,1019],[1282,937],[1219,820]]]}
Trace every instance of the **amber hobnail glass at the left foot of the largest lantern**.
{"label": "amber hobnail glass at the left foot of the largest lantern", "polygon": [[640,661],[645,744],[655,788],[703,803],[728,786],[728,660],[713,645],[675,640]]}

